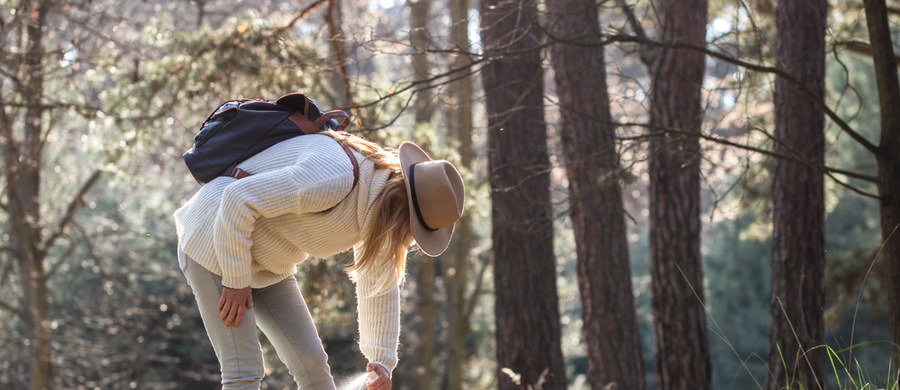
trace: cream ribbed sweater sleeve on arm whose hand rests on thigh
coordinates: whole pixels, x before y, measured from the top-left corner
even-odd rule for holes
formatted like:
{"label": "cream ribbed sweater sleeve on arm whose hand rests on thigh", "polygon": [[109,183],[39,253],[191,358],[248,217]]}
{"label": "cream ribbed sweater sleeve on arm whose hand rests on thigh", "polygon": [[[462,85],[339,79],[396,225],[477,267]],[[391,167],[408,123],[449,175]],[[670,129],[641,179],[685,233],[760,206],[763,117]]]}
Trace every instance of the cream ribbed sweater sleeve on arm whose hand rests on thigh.
{"label": "cream ribbed sweater sleeve on arm whose hand rests on thigh", "polygon": [[336,165],[329,166],[327,161],[298,163],[237,180],[225,188],[213,227],[223,286],[250,285],[251,236],[258,218],[326,210],[347,195],[352,173]]}

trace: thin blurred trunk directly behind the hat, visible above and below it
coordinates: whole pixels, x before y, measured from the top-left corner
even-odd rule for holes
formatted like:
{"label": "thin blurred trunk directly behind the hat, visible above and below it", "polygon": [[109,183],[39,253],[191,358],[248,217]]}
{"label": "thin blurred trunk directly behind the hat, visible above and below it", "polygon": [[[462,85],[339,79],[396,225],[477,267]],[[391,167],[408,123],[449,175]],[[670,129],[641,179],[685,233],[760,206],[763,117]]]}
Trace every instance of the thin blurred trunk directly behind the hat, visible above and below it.
{"label": "thin blurred trunk directly behind the hat, visible above and below it", "polygon": [[[413,71],[416,80],[424,80],[428,77],[428,8],[430,0],[415,0],[409,3],[409,40],[412,44]],[[431,90],[423,89],[415,96],[416,124],[427,124],[431,121]],[[436,333],[436,305],[435,302],[435,262],[425,260],[417,262],[419,268],[416,276],[416,313],[418,313],[416,327],[419,344],[416,346],[416,359],[414,361],[415,372],[413,378],[415,389],[434,388],[434,373],[432,361],[435,353]]]}

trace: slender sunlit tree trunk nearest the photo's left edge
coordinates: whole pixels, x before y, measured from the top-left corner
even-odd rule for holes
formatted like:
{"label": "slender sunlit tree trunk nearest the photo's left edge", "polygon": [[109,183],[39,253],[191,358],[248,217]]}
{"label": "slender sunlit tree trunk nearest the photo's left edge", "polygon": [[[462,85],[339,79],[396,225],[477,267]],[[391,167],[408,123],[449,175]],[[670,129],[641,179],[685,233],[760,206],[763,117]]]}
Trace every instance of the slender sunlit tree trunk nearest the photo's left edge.
{"label": "slender sunlit tree trunk nearest the photo's left edge", "polygon": [[[25,109],[24,142],[22,158],[13,163],[10,190],[13,212],[12,241],[16,252],[24,262],[21,267],[23,288],[27,297],[28,315],[31,320],[31,388],[33,390],[54,387],[53,366],[50,360],[50,303],[47,279],[44,271],[44,254],[40,227],[40,167],[43,150],[43,94],[44,94],[44,27],[47,21],[48,1],[31,1],[25,8],[27,19],[27,45],[25,54]],[[12,142],[12,140],[10,140]]]}

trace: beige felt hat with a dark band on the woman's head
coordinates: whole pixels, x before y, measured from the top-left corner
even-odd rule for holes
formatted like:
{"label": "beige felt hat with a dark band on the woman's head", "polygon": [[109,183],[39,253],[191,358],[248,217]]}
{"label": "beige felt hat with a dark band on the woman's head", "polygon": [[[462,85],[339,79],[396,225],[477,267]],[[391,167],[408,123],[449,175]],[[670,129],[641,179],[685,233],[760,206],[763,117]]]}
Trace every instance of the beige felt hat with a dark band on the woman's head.
{"label": "beige felt hat with a dark band on the woman's head", "polygon": [[462,216],[465,187],[447,160],[432,160],[422,148],[404,142],[398,148],[409,194],[409,223],[419,248],[429,256],[444,253]]}

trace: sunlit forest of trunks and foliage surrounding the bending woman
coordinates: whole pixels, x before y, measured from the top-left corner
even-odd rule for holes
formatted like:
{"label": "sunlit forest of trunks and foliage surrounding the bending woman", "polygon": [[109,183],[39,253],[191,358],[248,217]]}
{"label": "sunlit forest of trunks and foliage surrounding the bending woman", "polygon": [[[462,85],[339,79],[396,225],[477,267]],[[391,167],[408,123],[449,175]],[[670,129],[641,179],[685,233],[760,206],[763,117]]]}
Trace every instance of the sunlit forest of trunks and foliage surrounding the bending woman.
{"label": "sunlit forest of trunks and foliage surrounding the bending woman", "polygon": [[[897,389],[898,42],[898,0],[0,0],[0,388],[220,388],[182,155],[299,91],[466,184],[395,389]],[[351,261],[297,272],[342,389]]]}

